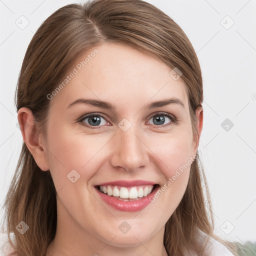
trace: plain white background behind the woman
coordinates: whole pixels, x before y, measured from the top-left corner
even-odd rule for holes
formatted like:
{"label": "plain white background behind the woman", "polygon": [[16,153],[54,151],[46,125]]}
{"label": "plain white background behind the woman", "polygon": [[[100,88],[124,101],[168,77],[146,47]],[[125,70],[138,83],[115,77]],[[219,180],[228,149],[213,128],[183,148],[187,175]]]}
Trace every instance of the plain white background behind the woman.
{"label": "plain white background behind the woman", "polygon": [[[216,234],[227,240],[256,241],[256,2],[147,1],[181,26],[201,65],[204,122],[199,150],[210,188]],[[1,212],[22,143],[16,126],[14,90],[25,50],[42,21],[73,2],[0,0]],[[29,21],[24,29],[15,23],[21,15]],[[221,127],[226,118],[234,124],[228,131]]]}

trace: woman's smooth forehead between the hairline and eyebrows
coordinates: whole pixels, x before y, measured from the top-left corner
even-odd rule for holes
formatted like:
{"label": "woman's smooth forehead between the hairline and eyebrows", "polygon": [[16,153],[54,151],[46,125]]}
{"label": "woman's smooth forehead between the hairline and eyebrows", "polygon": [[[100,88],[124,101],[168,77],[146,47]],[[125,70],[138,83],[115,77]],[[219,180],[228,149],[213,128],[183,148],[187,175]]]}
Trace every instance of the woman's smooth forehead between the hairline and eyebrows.
{"label": "woman's smooth forehead between the hairline and eyebrows", "polygon": [[142,103],[174,96],[187,104],[186,85],[181,78],[171,77],[172,68],[154,55],[125,44],[106,42],[80,52],[66,70],[60,81],[65,85],[54,100],[69,102],[89,96]]}

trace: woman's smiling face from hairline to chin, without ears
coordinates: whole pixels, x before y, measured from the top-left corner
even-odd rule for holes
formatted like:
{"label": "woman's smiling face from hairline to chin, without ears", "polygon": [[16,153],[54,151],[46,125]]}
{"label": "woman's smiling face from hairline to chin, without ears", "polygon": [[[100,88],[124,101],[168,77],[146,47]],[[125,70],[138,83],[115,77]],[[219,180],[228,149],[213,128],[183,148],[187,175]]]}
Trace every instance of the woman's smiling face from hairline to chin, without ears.
{"label": "woman's smiling face from hairline to chin, without ears", "polygon": [[117,246],[163,234],[197,150],[182,76],[116,43],[79,54],[68,70],[48,95],[46,137],[62,231]]}

